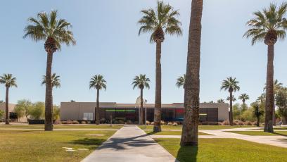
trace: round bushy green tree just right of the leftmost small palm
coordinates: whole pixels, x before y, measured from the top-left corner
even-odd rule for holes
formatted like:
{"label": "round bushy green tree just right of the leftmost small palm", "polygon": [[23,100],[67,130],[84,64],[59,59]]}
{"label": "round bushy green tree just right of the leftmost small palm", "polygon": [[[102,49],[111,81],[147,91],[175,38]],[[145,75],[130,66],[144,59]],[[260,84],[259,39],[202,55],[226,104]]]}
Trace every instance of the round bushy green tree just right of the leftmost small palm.
{"label": "round bushy green tree just right of the leftmost small palm", "polygon": [[32,106],[32,102],[27,99],[19,100],[15,106],[15,113],[17,113],[18,118],[25,116],[26,120],[29,121],[28,116],[30,116]]}

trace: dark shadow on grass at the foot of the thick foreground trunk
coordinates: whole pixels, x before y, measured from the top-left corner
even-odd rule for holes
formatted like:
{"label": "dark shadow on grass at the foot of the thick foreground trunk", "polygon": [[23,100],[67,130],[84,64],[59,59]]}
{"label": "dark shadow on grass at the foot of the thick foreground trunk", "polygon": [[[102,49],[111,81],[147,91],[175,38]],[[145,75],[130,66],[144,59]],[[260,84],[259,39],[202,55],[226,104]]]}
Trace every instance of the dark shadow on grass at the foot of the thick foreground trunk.
{"label": "dark shadow on grass at the foot of the thick foreground trunk", "polygon": [[198,146],[180,147],[177,152],[177,160],[180,162],[196,162]]}

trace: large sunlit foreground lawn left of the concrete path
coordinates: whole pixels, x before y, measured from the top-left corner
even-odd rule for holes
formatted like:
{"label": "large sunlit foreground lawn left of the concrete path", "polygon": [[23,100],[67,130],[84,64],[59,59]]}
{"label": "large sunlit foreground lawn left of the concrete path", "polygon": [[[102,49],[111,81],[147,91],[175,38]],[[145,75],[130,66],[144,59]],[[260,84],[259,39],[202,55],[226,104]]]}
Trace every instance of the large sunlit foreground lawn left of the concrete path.
{"label": "large sunlit foreground lawn left of the concrete path", "polygon": [[[0,161],[81,161],[115,131],[0,130]],[[62,147],[88,149],[65,151]]]}

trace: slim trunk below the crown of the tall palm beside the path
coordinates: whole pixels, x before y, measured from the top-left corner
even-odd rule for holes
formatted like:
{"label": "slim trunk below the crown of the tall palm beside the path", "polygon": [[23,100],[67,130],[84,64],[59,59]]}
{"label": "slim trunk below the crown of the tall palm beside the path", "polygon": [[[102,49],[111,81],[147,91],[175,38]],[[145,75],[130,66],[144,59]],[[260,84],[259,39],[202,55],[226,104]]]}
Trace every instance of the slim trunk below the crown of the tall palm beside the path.
{"label": "slim trunk below the crown of the tall palm beside the path", "polygon": [[156,42],[156,58],[155,58],[155,114],[153,132],[161,132],[161,42]]}

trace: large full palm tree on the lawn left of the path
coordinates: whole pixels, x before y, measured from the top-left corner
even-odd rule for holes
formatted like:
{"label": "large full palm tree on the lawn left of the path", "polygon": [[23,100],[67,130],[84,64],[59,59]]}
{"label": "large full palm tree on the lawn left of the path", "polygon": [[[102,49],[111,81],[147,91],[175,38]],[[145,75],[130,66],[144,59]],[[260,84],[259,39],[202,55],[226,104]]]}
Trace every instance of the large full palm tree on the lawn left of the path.
{"label": "large full palm tree on the lawn left of the path", "polygon": [[60,50],[60,44],[75,45],[76,41],[70,31],[72,25],[64,19],[57,19],[57,11],[38,13],[37,18],[29,18],[25,27],[24,38],[30,37],[35,42],[45,41],[46,62],[46,96],[45,96],[45,130],[53,130],[53,94],[52,62],[53,53]]}

